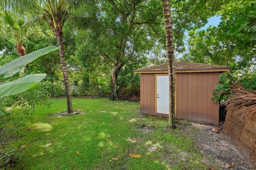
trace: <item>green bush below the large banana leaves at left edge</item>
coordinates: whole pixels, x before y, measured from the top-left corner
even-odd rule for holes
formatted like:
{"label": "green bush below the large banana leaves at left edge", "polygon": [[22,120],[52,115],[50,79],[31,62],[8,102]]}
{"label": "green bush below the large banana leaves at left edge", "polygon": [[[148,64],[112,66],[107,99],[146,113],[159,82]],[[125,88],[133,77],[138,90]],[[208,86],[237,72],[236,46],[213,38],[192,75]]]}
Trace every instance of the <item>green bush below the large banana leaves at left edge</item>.
{"label": "green bush below the large banana leaves at left edge", "polygon": [[19,126],[25,126],[32,120],[36,105],[50,105],[50,88],[49,83],[41,83],[22,94],[3,98],[0,104],[0,128],[18,132]]}

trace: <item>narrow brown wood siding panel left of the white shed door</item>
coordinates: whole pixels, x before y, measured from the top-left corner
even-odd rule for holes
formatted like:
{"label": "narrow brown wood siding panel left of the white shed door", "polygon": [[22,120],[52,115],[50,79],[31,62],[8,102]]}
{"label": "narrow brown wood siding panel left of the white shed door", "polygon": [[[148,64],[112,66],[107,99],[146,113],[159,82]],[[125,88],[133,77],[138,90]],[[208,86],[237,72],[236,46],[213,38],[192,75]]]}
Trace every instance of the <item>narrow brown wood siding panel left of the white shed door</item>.
{"label": "narrow brown wood siding panel left of the white shed door", "polygon": [[156,114],[155,74],[140,74],[140,112]]}

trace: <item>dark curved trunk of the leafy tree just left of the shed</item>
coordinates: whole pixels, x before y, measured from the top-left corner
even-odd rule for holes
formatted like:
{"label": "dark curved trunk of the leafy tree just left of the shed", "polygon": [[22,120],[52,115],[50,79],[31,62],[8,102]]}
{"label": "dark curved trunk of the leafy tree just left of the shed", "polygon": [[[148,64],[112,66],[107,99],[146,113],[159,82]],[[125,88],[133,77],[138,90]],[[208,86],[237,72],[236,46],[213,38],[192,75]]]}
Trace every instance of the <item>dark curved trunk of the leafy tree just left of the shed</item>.
{"label": "dark curved trunk of the leafy tree just left of the shed", "polygon": [[123,67],[123,63],[119,62],[118,64],[115,64],[115,66],[111,70],[111,96],[109,98],[110,100],[119,99],[117,77],[122,67]]}

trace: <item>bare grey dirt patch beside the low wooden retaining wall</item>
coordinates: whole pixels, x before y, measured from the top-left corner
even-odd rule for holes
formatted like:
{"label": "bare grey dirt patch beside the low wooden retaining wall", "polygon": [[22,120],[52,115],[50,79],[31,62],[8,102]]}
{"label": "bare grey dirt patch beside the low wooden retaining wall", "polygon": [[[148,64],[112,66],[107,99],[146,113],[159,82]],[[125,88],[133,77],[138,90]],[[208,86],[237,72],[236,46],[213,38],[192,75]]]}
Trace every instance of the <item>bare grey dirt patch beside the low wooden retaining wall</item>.
{"label": "bare grey dirt patch beside the low wooden retaining wall", "polygon": [[194,135],[196,147],[204,155],[209,155],[214,160],[212,162],[204,157],[203,163],[218,166],[221,169],[254,169],[227,137],[220,132],[221,127],[193,123],[190,126],[185,126],[185,129],[189,134]]}

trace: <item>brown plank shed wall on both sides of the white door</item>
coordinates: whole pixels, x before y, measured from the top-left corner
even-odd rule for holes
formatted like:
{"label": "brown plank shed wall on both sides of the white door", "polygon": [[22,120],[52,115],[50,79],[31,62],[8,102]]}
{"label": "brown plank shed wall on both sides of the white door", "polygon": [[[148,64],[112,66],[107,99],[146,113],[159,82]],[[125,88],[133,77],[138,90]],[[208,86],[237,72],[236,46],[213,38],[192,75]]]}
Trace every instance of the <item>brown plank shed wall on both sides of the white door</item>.
{"label": "brown plank shed wall on both sides of the white door", "polygon": [[[140,112],[156,113],[156,73],[140,74]],[[167,74],[166,74],[167,75]],[[212,92],[219,83],[219,72],[176,73],[176,117],[181,120],[219,123],[219,103]]]}

